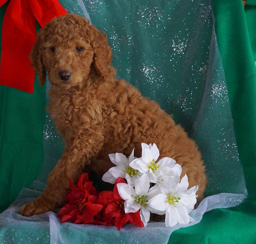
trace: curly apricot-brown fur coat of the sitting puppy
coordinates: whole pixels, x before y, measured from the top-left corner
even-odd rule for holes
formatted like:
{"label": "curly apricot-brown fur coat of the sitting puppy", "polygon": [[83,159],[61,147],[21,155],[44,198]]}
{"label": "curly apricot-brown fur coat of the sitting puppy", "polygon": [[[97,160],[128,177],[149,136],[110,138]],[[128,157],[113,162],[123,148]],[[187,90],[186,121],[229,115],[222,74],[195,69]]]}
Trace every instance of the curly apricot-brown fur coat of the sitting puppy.
{"label": "curly apricot-brown fur coat of the sitting puppy", "polygon": [[[142,142],[155,143],[160,158],[175,159],[189,187],[199,186],[198,200],[203,198],[207,179],[195,142],[156,102],[115,78],[105,33],[79,15],[60,16],[39,31],[30,57],[41,85],[47,70],[52,84],[48,111],[65,148],[42,195],[25,204],[21,214],[54,211],[65,202],[69,177],[76,181],[88,168],[102,176],[113,166],[110,153],[130,155],[135,148],[139,157]],[[69,70],[71,77],[61,80],[61,70]]]}

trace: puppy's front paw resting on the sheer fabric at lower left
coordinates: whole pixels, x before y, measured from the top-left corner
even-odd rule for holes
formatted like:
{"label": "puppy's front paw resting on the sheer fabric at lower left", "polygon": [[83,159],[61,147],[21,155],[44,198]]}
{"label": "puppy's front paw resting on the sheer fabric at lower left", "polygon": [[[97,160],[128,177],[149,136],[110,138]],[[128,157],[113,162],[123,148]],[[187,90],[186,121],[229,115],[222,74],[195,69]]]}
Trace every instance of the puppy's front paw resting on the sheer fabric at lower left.
{"label": "puppy's front paw resting on the sheer fabric at lower left", "polygon": [[43,214],[48,211],[53,211],[53,207],[47,206],[45,204],[38,204],[36,200],[31,203],[26,203],[22,206],[20,214],[23,216],[32,216],[35,214]]}

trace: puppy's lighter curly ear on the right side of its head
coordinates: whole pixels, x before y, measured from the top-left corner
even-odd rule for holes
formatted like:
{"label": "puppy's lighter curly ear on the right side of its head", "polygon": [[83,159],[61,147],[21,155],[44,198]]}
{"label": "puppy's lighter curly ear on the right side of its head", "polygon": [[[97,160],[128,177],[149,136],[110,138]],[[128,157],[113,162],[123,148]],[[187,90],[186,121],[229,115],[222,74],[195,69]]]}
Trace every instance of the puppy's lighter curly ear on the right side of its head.
{"label": "puppy's lighter curly ear on the right side of its head", "polygon": [[101,33],[95,26],[89,26],[91,31],[91,46],[94,50],[94,66],[98,73],[108,80],[116,73],[114,68],[110,66],[112,59],[112,51],[109,47],[105,33]]}

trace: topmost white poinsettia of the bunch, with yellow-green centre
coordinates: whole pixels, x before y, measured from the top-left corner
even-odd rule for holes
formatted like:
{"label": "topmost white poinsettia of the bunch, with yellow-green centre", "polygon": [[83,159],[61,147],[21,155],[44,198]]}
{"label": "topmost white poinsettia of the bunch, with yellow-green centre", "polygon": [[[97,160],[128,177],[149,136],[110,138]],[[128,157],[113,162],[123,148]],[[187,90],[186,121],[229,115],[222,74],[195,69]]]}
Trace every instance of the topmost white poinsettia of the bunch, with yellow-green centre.
{"label": "topmost white poinsettia of the bunch, with yellow-green centre", "polygon": [[146,173],[152,183],[162,181],[165,176],[180,177],[181,167],[175,166],[176,161],[174,159],[165,157],[156,162],[160,155],[156,144],[142,143],[141,147],[142,157],[134,159],[130,163],[133,169],[139,170],[142,174]]}

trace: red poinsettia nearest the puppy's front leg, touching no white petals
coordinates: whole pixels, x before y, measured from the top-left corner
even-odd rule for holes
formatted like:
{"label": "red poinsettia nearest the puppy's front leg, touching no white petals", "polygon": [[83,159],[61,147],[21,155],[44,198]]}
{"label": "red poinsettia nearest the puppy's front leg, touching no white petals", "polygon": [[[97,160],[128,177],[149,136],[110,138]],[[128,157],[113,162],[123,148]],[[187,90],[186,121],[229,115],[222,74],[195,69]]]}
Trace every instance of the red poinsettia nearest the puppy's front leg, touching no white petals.
{"label": "red poinsettia nearest the puppy's front leg, touching no white petals", "polygon": [[96,203],[98,192],[92,183],[87,173],[78,178],[76,185],[69,179],[71,190],[67,192],[68,203],[58,213],[62,223],[67,221],[83,224],[94,222],[94,216],[102,210],[103,205]]}

